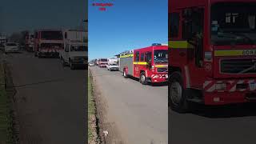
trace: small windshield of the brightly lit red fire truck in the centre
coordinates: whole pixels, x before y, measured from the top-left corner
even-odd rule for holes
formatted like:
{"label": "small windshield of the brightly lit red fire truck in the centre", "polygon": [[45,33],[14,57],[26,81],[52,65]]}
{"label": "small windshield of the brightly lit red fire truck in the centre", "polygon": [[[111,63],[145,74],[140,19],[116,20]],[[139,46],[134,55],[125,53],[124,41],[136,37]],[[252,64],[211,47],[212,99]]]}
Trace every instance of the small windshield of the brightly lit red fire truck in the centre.
{"label": "small windshield of the brightly lit red fire truck in the centre", "polygon": [[168,50],[154,50],[154,63],[167,63]]}

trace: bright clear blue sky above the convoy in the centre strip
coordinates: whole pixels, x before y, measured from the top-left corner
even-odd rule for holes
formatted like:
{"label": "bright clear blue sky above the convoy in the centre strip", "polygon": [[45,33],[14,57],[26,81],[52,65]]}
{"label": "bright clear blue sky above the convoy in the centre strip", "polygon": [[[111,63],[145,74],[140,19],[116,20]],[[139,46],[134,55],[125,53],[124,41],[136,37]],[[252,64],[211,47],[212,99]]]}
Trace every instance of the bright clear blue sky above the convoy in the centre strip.
{"label": "bright clear blue sky above the convoy in the centre strip", "polygon": [[[106,11],[94,2],[113,2]],[[89,0],[89,58],[168,42],[167,0]]]}

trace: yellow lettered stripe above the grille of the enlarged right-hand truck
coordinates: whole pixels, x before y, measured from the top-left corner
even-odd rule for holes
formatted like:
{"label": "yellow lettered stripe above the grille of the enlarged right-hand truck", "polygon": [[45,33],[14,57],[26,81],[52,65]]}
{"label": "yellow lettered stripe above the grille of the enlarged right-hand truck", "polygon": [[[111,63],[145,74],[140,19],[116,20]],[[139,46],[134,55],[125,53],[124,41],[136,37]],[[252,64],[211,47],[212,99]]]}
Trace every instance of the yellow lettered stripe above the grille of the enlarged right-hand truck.
{"label": "yellow lettered stripe above the grille of the enlarged right-hand truck", "polygon": [[256,55],[256,50],[215,50],[214,56],[242,56],[242,55]]}

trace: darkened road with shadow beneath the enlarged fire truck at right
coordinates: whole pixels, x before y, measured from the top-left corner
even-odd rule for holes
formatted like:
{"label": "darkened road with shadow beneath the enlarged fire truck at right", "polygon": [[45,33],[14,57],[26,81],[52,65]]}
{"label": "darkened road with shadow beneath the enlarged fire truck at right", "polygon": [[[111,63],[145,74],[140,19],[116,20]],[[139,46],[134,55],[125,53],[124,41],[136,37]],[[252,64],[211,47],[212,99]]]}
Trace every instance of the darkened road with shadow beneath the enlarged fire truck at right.
{"label": "darkened road with shadow beneath the enlarged fire truck at right", "polygon": [[255,104],[199,106],[188,114],[170,114],[170,144],[254,144]]}

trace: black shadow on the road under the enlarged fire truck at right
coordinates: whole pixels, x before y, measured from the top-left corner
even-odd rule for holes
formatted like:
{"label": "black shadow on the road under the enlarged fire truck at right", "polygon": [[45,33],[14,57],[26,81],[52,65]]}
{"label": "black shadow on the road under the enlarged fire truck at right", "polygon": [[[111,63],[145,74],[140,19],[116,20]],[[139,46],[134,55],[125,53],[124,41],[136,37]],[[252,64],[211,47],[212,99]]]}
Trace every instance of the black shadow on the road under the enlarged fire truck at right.
{"label": "black shadow on the road under the enlarged fire truck at right", "polygon": [[195,105],[192,114],[206,118],[238,118],[256,116],[255,103],[235,104],[229,106]]}

